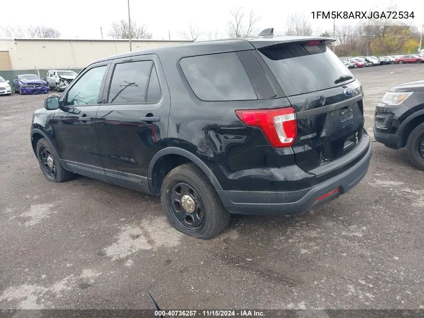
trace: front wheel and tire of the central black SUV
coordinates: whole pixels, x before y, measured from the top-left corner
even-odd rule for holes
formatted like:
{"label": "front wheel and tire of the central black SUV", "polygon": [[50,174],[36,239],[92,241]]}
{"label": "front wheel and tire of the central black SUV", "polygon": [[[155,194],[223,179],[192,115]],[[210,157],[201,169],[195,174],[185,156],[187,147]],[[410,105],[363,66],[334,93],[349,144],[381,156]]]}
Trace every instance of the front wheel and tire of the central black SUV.
{"label": "front wheel and tire of the central black SUV", "polygon": [[47,180],[52,182],[65,182],[74,177],[74,174],[65,170],[54,154],[54,151],[46,139],[41,138],[37,142],[37,159],[41,171]]}

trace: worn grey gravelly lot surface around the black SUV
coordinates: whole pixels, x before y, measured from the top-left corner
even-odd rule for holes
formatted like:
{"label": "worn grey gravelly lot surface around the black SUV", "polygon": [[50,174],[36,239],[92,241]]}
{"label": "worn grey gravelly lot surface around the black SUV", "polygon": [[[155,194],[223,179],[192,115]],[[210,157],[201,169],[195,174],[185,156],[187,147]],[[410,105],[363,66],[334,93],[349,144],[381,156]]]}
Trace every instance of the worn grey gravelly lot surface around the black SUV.
{"label": "worn grey gravelly lot surface around the black SUV", "polygon": [[[424,65],[354,69],[366,128]],[[29,141],[46,95],[0,96],[0,308],[422,308],[424,172],[372,142],[365,178],[298,217],[234,216],[202,241],[160,201],[86,177],[55,184]],[[372,139],[373,140],[373,139]]]}

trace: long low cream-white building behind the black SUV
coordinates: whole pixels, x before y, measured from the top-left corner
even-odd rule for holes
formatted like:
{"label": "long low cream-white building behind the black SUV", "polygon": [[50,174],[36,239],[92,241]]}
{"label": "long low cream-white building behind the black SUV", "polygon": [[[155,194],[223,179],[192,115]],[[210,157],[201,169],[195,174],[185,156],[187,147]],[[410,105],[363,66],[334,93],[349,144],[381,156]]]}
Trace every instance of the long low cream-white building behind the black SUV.
{"label": "long low cream-white building behind the black SUV", "polygon": [[[132,40],[132,51],[192,41]],[[0,39],[0,71],[83,68],[91,61],[129,51],[128,40]]]}

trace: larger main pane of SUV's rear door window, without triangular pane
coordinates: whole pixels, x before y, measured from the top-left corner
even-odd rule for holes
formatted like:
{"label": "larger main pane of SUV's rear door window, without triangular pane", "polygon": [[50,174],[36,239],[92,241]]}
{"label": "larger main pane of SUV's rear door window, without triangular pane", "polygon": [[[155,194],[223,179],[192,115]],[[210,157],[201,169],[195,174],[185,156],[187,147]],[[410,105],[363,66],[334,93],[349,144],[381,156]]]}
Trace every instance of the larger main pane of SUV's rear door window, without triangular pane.
{"label": "larger main pane of SUV's rear door window, without triangular pane", "polygon": [[109,89],[109,103],[145,103],[153,61],[116,64]]}

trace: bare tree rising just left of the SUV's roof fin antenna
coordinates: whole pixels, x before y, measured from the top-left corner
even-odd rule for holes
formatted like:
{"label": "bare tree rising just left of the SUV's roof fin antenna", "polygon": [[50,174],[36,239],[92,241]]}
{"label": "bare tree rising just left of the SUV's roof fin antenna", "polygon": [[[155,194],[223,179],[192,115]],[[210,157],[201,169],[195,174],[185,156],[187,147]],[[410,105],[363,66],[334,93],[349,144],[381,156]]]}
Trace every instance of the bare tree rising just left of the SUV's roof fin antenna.
{"label": "bare tree rising just left of the SUV's roof fin antenna", "polygon": [[249,37],[257,33],[258,30],[255,28],[255,25],[260,18],[256,17],[253,10],[250,11],[247,22],[245,22],[246,19],[244,18],[243,8],[230,10],[230,15],[231,18],[227,26],[228,36],[231,38],[241,38]]}

